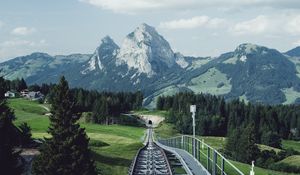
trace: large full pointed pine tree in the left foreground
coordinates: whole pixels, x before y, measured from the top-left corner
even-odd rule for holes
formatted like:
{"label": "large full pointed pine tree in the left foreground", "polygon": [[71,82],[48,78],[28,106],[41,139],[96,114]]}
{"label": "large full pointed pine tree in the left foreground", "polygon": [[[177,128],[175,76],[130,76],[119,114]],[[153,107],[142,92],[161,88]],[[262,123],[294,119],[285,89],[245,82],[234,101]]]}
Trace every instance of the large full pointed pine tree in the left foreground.
{"label": "large full pointed pine tree in the left foreground", "polygon": [[47,175],[93,175],[94,162],[88,149],[88,138],[77,123],[73,113],[68,83],[64,77],[55,87],[50,127],[52,135],[41,147],[41,154],[34,161],[34,174]]}

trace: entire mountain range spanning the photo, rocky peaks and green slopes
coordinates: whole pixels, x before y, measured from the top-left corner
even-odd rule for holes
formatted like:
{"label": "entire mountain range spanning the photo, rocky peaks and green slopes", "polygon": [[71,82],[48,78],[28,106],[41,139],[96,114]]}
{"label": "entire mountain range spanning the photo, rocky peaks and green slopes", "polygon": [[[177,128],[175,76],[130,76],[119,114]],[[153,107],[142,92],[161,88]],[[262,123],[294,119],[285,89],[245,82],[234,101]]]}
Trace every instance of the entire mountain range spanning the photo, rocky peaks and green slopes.
{"label": "entire mountain range spanning the photo, rocky peaks and green slopes", "polygon": [[191,91],[266,104],[300,102],[299,48],[286,53],[250,43],[219,57],[189,57],[174,52],[155,28],[141,24],[118,46],[109,36],[93,54],[50,56],[33,53],[0,63],[8,79],[29,84],[57,82],[72,87],[137,91],[154,107],[158,96]]}

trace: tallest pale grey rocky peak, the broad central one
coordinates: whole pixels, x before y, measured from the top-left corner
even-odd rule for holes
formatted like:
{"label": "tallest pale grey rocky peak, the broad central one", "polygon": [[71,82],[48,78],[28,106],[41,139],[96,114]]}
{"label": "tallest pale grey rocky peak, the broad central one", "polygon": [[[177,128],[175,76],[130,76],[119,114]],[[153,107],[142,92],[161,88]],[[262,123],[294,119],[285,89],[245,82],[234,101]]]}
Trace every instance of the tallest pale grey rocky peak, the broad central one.
{"label": "tallest pale grey rocky peak, the broad central one", "polygon": [[137,69],[148,76],[163,71],[160,66],[170,68],[175,64],[169,43],[154,27],[145,23],[127,35],[117,58],[117,64],[127,64],[130,69]]}

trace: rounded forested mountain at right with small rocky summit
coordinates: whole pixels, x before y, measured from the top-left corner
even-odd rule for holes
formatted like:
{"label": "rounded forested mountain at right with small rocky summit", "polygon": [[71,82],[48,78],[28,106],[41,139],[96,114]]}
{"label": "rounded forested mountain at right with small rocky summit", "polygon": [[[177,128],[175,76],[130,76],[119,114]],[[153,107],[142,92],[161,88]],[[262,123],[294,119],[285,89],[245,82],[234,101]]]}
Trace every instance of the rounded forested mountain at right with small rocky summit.
{"label": "rounded forested mountain at right with small rocky summit", "polygon": [[275,49],[242,44],[223,58],[216,68],[231,79],[227,98],[242,96],[252,102],[279,104],[287,100],[285,92],[300,92],[295,64]]}

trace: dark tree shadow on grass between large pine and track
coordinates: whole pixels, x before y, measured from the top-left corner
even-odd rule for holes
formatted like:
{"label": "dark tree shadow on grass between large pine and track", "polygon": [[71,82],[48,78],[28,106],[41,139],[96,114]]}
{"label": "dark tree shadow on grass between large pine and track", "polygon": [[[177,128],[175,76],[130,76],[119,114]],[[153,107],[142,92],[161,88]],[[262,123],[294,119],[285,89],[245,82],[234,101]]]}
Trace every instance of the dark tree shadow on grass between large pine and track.
{"label": "dark tree shadow on grass between large pine and track", "polygon": [[93,158],[96,162],[114,165],[114,166],[126,166],[129,167],[131,164],[131,159],[124,159],[121,157],[109,157],[105,155],[101,155],[92,151]]}

